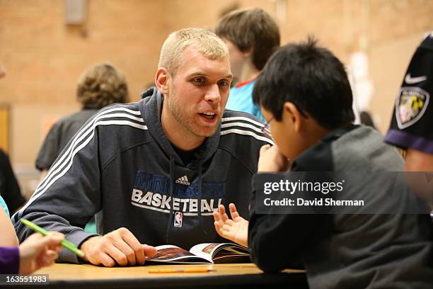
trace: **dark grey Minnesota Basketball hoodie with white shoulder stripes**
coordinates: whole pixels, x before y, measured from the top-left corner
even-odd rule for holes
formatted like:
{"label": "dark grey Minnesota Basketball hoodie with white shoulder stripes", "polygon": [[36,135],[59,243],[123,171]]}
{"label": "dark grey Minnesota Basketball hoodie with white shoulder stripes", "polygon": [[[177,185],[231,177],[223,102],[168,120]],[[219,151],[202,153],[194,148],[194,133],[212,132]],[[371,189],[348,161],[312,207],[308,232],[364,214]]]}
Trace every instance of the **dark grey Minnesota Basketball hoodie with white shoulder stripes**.
{"label": "dark grey Minnesota Basketball hoodie with white shoulder stripes", "polygon": [[[79,245],[91,236],[83,226],[99,212],[100,234],[127,227],[142,244],[189,249],[222,241],[212,216],[219,203],[236,203],[248,216],[259,150],[272,142],[262,135],[262,123],[225,111],[221,127],[184,164],[161,126],[163,96],[155,89],[143,96],[138,103],[103,108],[83,125],[13,216],[21,241],[31,233],[19,222],[25,217]],[[183,222],[175,222],[180,213]],[[59,258],[77,261],[64,250]]]}

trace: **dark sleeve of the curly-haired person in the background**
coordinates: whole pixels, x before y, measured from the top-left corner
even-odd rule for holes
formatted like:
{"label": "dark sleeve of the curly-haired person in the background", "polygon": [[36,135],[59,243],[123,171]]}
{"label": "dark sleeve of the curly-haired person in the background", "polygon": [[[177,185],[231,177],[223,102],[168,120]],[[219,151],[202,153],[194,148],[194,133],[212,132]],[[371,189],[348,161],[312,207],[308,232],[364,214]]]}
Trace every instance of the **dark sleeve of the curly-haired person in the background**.
{"label": "dark sleeve of the curly-haired person in the background", "polygon": [[44,169],[50,169],[50,166],[54,163],[60,152],[59,147],[59,125],[54,124],[48,132],[45,140],[37,153],[35,162],[36,169],[42,171]]}

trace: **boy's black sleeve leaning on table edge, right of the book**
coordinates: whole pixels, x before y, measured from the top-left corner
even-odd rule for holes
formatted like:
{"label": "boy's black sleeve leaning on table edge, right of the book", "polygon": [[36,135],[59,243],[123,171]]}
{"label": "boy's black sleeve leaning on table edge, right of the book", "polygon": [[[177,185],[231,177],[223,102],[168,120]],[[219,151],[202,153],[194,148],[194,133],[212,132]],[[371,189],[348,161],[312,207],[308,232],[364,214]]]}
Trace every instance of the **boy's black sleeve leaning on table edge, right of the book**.
{"label": "boy's black sleeve leaning on table edge, right of the book", "polygon": [[248,226],[251,261],[265,272],[299,266],[308,248],[330,227],[331,215],[256,214],[254,194]]}

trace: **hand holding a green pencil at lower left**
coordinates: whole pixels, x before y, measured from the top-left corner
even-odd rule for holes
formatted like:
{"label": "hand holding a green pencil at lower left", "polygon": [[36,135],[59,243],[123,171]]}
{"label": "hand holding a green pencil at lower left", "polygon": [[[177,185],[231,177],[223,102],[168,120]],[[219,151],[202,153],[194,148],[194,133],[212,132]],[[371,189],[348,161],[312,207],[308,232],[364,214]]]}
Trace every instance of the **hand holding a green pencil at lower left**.
{"label": "hand holding a green pencil at lower left", "polygon": [[59,232],[50,232],[48,236],[35,233],[25,239],[19,246],[20,274],[32,273],[54,263],[62,248],[60,242],[63,239],[64,234]]}

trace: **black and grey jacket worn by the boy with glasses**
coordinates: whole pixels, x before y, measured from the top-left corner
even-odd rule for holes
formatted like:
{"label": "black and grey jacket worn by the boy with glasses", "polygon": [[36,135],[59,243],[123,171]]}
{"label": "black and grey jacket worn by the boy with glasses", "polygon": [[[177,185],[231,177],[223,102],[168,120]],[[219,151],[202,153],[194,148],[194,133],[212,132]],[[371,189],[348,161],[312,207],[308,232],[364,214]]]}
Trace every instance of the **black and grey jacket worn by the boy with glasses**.
{"label": "black and grey jacket worn by the boy with glasses", "polygon": [[[403,160],[376,130],[350,126],[330,132],[296,158],[291,170],[402,171]],[[383,183],[383,189],[359,186],[354,193],[359,199],[375,195],[376,200],[389,200],[381,196],[387,186],[395,189],[393,183]],[[415,196],[410,193],[408,198]],[[393,205],[387,209],[395,212],[406,205],[381,204]],[[250,254],[264,271],[290,268],[299,261],[312,289],[432,288],[432,226],[427,214],[258,215],[252,205]]]}

